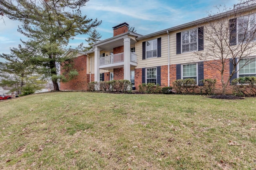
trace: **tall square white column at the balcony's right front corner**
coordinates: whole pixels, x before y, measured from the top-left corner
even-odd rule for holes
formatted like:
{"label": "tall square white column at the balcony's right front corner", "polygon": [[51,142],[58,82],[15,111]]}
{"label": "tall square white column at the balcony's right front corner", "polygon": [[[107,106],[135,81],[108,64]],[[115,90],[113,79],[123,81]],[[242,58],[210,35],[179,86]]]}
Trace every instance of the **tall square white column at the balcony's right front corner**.
{"label": "tall square white column at the balcony's right front corner", "polygon": [[124,80],[130,81],[130,38],[124,38]]}

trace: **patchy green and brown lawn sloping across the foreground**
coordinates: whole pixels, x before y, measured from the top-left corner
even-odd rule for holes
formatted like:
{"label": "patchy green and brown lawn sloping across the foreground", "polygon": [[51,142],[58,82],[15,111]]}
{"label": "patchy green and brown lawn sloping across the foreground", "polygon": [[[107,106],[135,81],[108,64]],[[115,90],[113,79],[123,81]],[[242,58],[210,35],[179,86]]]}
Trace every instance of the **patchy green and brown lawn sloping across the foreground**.
{"label": "patchy green and brown lawn sloping across the foreground", "polygon": [[0,169],[256,169],[256,98],[59,92],[0,110]]}

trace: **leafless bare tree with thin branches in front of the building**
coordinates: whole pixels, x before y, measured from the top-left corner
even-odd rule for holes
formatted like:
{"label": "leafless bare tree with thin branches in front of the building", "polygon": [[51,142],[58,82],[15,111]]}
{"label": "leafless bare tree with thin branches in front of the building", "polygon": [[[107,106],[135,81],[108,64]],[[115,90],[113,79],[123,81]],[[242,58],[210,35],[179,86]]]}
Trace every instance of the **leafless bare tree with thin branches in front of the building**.
{"label": "leafless bare tree with thin branches in front of the building", "polygon": [[[216,7],[219,14],[209,14],[209,17],[198,25],[202,28],[204,37],[204,50],[195,51],[195,57],[208,66],[220,72],[222,83],[222,94],[226,94],[229,82],[236,78],[236,72],[249,66],[255,61],[256,54],[256,6],[248,5],[240,8],[223,10]],[[228,68],[230,65],[230,68]],[[226,72],[230,72],[226,78]],[[247,75],[244,75],[247,76]]]}

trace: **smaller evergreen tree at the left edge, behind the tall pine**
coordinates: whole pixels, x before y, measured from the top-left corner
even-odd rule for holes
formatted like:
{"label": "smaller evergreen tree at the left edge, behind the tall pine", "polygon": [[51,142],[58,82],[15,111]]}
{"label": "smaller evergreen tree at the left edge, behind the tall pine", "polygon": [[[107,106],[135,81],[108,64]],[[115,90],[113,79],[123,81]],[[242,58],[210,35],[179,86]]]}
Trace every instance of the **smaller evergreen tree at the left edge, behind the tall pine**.
{"label": "smaller evergreen tree at the left edge, behind the tall pine", "polygon": [[0,62],[0,86],[11,87],[11,92],[31,94],[42,89],[45,81],[37,72],[37,67],[30,63],[34,54],[30,49],[12,48],[11,54],[0,55],[5,62]]}

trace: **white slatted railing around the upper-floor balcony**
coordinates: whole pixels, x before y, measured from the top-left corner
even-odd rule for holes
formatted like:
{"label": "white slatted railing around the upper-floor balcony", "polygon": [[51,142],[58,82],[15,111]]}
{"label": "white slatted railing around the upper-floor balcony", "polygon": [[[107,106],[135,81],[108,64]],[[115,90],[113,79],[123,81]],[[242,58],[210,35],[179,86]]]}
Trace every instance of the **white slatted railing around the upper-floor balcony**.
{"label": "white slatted railing around the upper-floor balcony", "polygon": [[[105,64],[119,63],[124,61],[124,53],[118,53],[114,55],[108,55],[105,57],[100,57],[100,66]],[[137,62],[137,55],[130,52],[130,61]]]}

